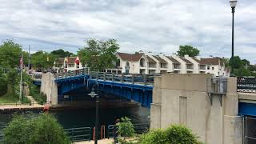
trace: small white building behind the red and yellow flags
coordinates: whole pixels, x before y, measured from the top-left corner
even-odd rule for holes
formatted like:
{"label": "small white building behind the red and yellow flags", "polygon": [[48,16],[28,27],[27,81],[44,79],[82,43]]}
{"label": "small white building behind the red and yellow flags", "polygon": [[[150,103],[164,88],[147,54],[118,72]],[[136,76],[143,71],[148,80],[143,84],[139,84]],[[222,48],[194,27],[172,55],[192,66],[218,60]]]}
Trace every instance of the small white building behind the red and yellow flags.
{"label": "small white building behind the red and yellow flags", "polygon": [[79,57],[66,57],[66,58],[58,58],[57,61],[54,62],[55,70],[79,70],[84,68],[82,62],[80,62]]}

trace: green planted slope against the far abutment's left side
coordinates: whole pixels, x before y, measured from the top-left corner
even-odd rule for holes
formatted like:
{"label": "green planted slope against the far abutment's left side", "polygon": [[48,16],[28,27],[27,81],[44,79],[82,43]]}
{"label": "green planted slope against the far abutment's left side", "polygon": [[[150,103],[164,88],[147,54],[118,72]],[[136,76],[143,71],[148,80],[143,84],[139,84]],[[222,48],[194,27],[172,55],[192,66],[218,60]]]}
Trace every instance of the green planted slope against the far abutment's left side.
{"label": "green planted slope against the far abutment's left side", "polygon": [[38,86],[30,86],[30,95],[38,102],[38,104],[42,105],[46,102],[46,95],[40,93],[40,88]]}

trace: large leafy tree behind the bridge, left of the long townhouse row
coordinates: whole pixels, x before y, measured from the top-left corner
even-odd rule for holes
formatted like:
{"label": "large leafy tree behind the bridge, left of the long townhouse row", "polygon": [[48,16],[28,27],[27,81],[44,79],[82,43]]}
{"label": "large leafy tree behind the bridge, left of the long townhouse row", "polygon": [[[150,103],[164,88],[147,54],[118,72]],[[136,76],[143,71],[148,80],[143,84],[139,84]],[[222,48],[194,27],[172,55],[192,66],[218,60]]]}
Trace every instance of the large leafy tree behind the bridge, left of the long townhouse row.
{"label": "large leafy tree behind the bridge, left of the long townhouse row", "polygon": [[109,39],[103,42],[90,39],[86,42],[86,45],[78,50],[78,56],[81,62],[90,67],[90,70],[103,70],[114,66],[115,53],[119,50],[116,40]]}

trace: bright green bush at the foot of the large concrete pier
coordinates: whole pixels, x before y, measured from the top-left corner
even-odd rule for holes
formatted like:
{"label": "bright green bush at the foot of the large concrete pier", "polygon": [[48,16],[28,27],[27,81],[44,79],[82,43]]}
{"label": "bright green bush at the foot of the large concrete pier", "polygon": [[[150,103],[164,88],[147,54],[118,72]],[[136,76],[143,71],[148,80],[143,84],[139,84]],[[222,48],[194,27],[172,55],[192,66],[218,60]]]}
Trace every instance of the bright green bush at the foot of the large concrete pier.
{"label": "bright green bush at the foot of the large concrete pier", "polygon": [[198,137],[192,130],[182,125],[172,125],[166,130],[151,130],[147,134],[142,134],[140,142],[142,144],[199,144]]}

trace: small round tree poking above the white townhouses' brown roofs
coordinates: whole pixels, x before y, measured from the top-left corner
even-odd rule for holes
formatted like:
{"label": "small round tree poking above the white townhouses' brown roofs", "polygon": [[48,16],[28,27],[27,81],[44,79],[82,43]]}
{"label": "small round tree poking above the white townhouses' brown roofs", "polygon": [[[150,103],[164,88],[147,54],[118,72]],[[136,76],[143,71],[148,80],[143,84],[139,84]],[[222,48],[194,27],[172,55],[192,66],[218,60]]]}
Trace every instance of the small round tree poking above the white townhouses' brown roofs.
{"label": "small round tree poking above the white townhouses' brown roofs", "polygon": [[198,56],[200,51],[193,47],[193,46],[189,46],[189,45],[185,45],[185,46],[179,46],[179,50],[177,51],[179,56],[184,57],[185,55],[189,55],[190,57],[195,57]]}

